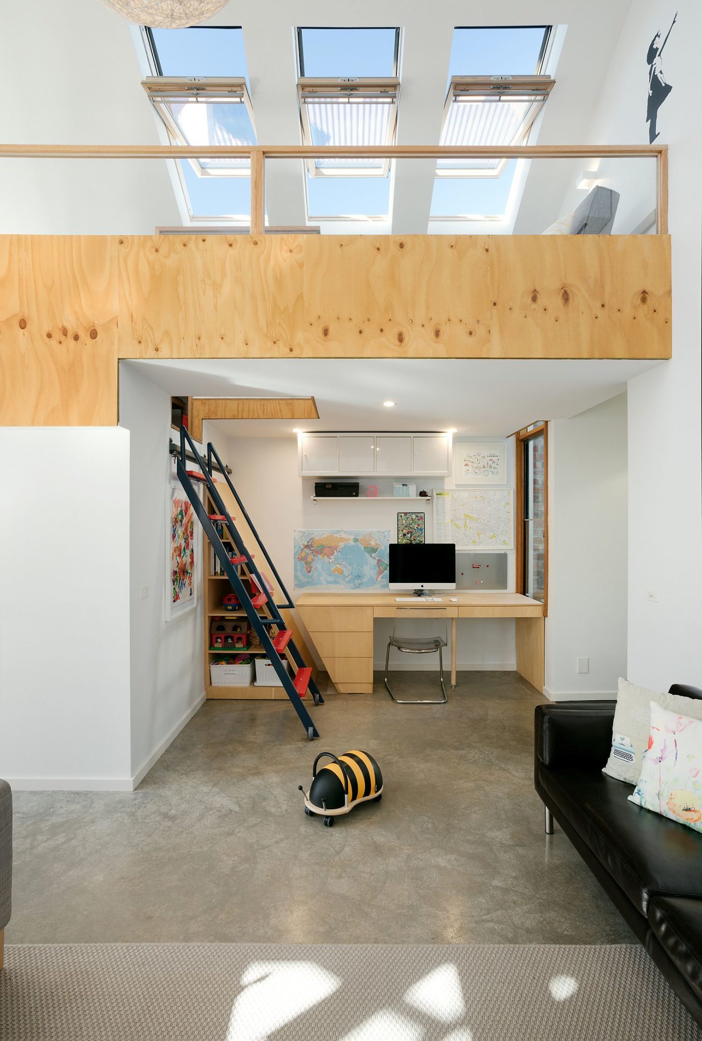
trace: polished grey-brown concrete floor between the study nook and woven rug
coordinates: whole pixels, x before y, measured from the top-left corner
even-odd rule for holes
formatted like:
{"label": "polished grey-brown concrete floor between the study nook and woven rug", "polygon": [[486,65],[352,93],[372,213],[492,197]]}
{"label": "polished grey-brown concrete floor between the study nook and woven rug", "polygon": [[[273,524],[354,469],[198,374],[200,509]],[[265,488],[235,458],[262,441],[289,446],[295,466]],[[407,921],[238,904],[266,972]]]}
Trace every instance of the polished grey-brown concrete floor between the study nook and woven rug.
{"label": "polished grey-brown concrete floor between the study nook and woven rug", "polygon": [[[132,794],[16,793],[7,942],[632,942],[544,834],[536,691],[462,672],[448,705],[398,706],[376,681],[312,707],[315,743],[287,703],[208,702]],[[297,786],[319,752],[353,747],[383,799],[324,828]]]}

